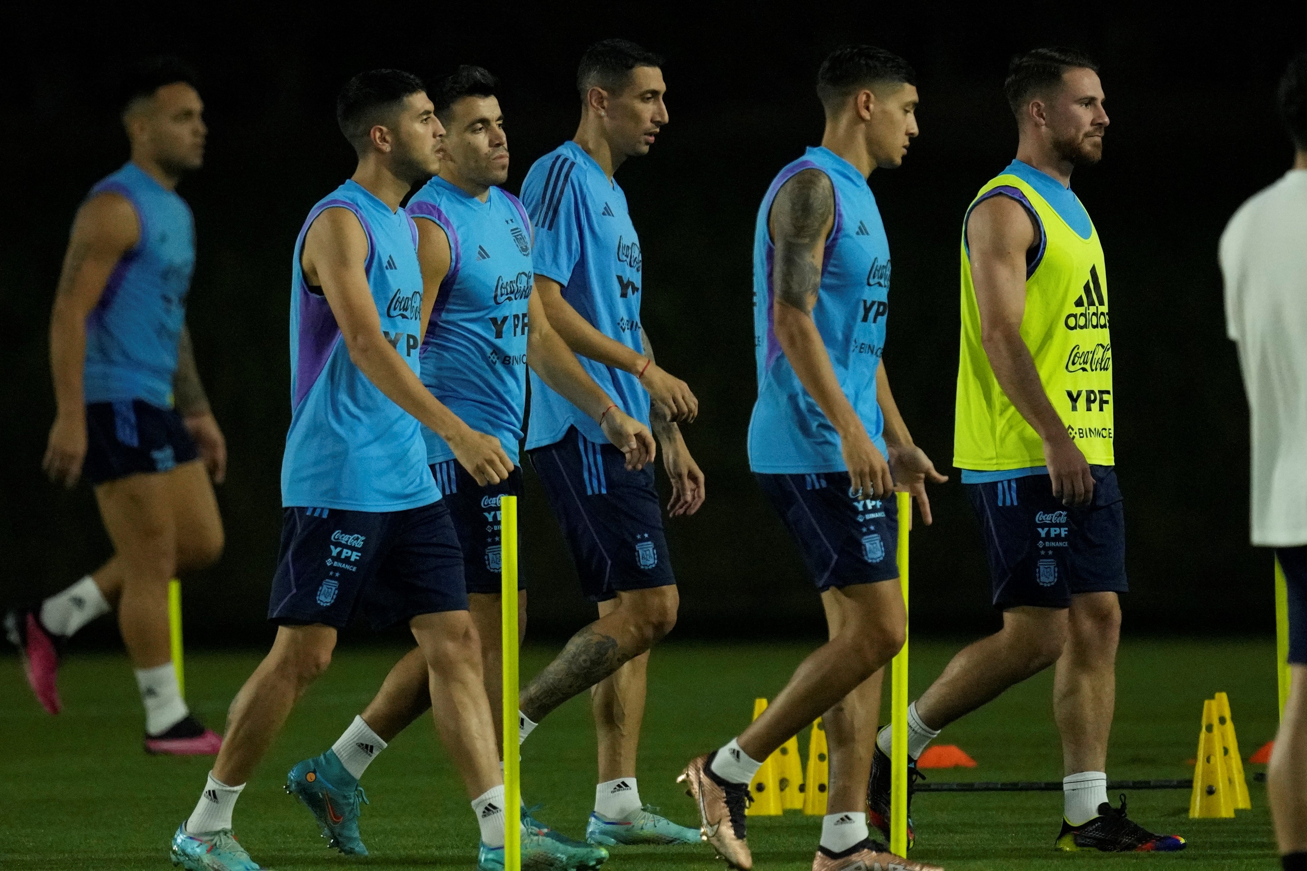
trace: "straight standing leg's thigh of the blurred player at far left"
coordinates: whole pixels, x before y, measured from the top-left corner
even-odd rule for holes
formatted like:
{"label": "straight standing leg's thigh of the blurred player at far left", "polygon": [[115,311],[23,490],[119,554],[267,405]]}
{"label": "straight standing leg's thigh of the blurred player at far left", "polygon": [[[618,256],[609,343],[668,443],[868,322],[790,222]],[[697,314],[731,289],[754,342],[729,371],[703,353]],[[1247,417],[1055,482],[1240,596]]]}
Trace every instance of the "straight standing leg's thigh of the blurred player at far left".
{"label": "straight standing leg's thigh of the blurred player at far left", "polygon": [[167,473],[140,473],[95,487],[95,501],[114,551],[127,564],[125,582],[167,580],[176,569],[176,518]]}

